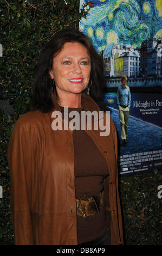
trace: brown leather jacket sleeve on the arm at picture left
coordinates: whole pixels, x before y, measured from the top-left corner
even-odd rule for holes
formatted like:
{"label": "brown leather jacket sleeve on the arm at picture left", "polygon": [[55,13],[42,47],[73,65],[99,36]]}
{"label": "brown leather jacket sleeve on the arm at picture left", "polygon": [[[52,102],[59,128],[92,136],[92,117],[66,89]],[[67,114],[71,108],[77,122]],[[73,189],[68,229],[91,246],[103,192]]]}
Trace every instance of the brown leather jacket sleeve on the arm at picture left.
{"label": "brown leather jacket sleeve on the arm at picture left", "polygon": [[[11,219],[15,245],[34,245],[29,179],[31,172],[30,129],[19,119],[8,146],[11,175]],[[28,181],[27,181],[28,180]]]}

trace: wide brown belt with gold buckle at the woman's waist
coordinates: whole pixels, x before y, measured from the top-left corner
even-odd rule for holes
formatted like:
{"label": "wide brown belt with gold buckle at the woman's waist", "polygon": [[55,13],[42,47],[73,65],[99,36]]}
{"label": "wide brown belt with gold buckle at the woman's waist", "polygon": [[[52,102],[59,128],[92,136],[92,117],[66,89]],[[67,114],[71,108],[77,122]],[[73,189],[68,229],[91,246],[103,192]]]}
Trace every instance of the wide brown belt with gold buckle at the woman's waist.
{"label": "wide brown belt with gold buckle at the woman's waist", "polygon": [[103,197],[101,192],[92,197],[83,194],[82,197],[76,199],[77,215],[82,216],[87,221],[92,221],[95,215],[99,213],[102,203]]}

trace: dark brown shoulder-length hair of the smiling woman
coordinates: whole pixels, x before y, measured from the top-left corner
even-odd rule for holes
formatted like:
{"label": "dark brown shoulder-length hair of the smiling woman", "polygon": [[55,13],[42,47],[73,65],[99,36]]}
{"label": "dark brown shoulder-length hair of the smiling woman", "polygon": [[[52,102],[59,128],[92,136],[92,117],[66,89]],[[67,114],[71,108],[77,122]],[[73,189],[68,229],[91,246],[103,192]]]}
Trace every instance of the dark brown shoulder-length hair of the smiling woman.
{"label": "dark brown shoulder-length hair of the smiling woman", "polygon": [[51,88],[53,88],[53,92],[55,88],[49,71],[53,66],[53,57],[61,51],[66,42],[79,42],[88,49],[91,60],[90,80],[92,81],[92,86],[89,86],[90,97],[96,102],[100,100],[104,83],[102,57],[96,52],[85,34],[75,29],[64,29],[53,36],[40,54],[31,94],[33,109],[38,109],[44,113],[54,109],[51,100]]}

